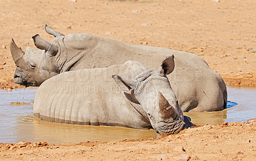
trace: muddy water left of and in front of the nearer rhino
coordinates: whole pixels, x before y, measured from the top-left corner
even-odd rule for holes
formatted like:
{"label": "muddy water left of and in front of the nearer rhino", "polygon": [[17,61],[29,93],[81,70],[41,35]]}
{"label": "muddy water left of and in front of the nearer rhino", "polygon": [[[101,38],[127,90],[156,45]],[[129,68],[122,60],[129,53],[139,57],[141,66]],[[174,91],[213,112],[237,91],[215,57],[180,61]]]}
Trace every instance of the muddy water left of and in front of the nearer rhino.
{"label": "muddy water left of and in front of the nearer rhino", "polygon": [[156,135],[154,130],[64,125],[40,121],[33,117],[32,104],[22,104],[32,103],[35,93],[36,88],[0,90],[0,142],[47,141],[50,144],[69,144],[85,141],[148,139]]}

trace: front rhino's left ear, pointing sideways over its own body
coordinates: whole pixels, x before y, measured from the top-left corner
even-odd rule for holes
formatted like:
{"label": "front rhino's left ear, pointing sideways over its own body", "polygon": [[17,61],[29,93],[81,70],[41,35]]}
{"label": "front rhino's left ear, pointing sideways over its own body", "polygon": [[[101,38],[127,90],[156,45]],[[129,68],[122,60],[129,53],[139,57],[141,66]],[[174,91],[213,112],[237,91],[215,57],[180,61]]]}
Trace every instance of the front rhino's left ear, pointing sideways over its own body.
{"label": "front rhino's left ear, pointing sideways over its own body", "polygon": [[116,84],[124,91],[124,95],[129,101],[135,104],[140,104],[134,95],[134,88],[136,86],[136,81],[122,78],[117,74],[113,75],[112,77],[113,79],[115,79]]}

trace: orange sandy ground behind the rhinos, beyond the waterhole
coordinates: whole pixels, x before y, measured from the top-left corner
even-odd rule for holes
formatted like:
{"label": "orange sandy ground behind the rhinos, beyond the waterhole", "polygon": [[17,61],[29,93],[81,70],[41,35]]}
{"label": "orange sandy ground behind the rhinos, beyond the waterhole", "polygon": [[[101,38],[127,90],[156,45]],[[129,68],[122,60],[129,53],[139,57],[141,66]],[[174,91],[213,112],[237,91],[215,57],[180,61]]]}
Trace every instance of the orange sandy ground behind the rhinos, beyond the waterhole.
{"label": "orange sandy ground behind the rhinos, beyond the waterhole", "polygon": [[184,50],[204,57],[227,85],[256,86],[256,13],[253,0],[1,1],[0,87],[16,88],[10,38],[35,47],[61,33],[92,33],[127,43]]}

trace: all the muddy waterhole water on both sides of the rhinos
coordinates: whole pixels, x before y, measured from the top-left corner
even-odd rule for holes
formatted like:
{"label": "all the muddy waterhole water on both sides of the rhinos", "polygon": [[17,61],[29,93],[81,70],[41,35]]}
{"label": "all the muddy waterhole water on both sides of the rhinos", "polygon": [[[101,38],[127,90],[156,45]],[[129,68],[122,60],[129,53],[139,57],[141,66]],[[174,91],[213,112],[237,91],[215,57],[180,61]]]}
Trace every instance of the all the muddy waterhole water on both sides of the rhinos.
{"label": "all the muddy waterhole water on both sides of the rhinos", "polygon": [[[147,139],[156,134],[154,130],[64,125],[40,121],[33,117],[33,107],[29,104],[33,102],[35,93],[36,88],[0,90],[0,142],[47,141],[51,144],[68,144],[83,141]],[[216,125],[226,121],[244,122],[256,118],[255,98],[256,89],[228,88],[228,100],[238,105],[218,112],[184,114],[191,117],[196,125]]]}

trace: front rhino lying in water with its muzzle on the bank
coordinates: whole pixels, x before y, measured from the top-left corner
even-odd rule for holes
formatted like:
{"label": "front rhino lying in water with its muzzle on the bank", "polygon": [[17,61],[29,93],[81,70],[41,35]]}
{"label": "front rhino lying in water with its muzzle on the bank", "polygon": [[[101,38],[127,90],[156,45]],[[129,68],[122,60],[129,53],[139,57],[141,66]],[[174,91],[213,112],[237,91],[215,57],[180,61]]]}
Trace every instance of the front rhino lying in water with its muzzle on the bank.
{"label": "front rhino lying in water with its muzzle on the bank", "polygon": [[127,61],[61,73],[38,88],[33,112],[55,123],[154,128],[160,134],[177,134],[190,120],[184,122],[166,77],[173,68],[171,56],[156,72],[138,61]]}

